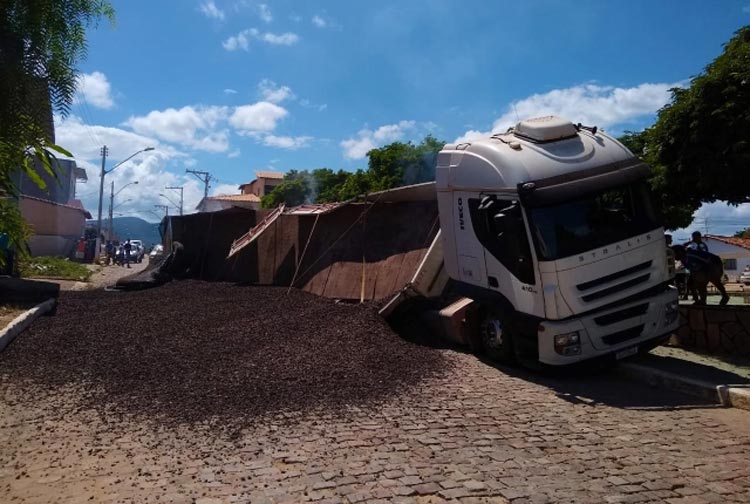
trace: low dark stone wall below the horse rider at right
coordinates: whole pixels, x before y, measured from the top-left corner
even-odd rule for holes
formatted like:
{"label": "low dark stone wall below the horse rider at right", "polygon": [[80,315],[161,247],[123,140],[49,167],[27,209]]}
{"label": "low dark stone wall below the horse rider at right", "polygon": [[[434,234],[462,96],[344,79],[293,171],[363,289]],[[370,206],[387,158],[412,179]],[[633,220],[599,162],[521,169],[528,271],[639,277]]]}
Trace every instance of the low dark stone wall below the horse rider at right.
{"label": "low dark stone wall below the horse rider at right", "polygon": [[750,306],[681,306],[671,343],[708,354],[750,357]]}

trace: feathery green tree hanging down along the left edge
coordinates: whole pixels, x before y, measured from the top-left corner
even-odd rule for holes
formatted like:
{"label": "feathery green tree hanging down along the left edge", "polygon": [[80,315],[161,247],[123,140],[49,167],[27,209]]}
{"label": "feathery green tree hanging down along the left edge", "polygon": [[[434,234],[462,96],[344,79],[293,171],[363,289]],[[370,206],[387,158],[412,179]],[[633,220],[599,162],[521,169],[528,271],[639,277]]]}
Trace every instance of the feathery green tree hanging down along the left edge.
{"label": "feathery green tree hanging down along the left edge", "polygon": [[52,112],[70,110],[86,28],[102,17],[114,20],[103,0],[0,2],[0,234],[19,252],[26,250],[28,230],[12,201],[13,174],[22,169],[43,188],[37,170],[55,176],[55,153],[70,156],[51,141]]}

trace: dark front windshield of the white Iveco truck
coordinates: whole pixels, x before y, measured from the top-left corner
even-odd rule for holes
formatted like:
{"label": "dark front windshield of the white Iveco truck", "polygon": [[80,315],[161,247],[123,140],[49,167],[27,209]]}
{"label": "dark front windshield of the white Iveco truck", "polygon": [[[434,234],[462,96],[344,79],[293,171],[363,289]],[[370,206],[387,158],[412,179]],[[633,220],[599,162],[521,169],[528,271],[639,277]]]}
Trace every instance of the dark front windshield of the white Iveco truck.
{"label": "dark front windshield of the white Iveco truck", "polygon": [[551,261],[658,227],[645,182],[530,209],[540,260]]}

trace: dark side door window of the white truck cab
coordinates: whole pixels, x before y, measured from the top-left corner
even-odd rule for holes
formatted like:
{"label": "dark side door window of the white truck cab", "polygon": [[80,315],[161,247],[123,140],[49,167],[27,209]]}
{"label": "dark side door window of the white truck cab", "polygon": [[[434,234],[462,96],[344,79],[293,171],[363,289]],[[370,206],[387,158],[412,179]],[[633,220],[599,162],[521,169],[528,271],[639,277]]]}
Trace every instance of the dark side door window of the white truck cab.
{"label": "dark side door window of the white truck cab", "polygon": [[[478,198],[469,199],[471,224],[479,242],[513,276],[526,284],[534,284],[534,268],[526,227],[517,201],[490,197],[482,205]],[[485,202],[485,203],[488,203]]]}

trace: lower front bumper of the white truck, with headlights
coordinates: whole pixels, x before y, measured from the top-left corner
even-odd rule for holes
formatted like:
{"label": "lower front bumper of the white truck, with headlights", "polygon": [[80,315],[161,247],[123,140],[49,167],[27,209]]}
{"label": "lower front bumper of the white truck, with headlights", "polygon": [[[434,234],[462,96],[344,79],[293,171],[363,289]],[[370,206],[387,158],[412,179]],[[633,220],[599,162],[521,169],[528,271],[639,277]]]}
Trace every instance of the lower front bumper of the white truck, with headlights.
{"label": "lower front bumper of the white truck, with headlights", "polygon": [[[563,366],[608,355],[616,358],[632,355],[677,330],[679,316],[674,314],[669,319],[666,316],[667,306],[676,303],[677,290],[669,288],[653,297],[609,310],[563,321],[544,321],[537,333],[539,361]],[[555,350],[555,335],[574,332],[580,335],[580,352],[561,355]]]}

